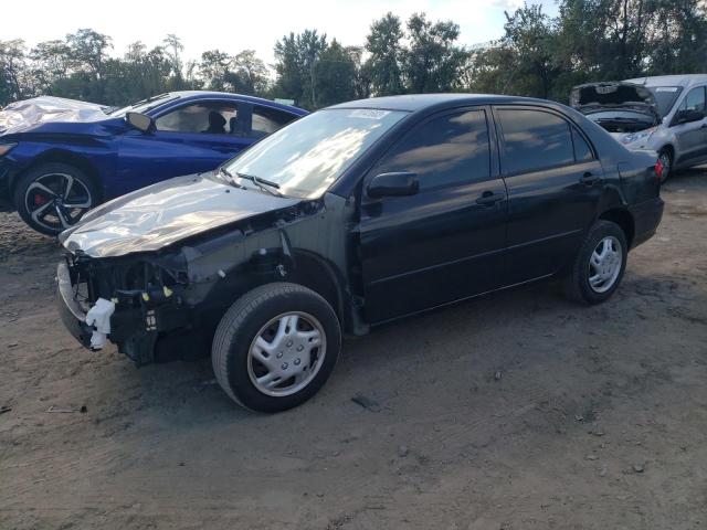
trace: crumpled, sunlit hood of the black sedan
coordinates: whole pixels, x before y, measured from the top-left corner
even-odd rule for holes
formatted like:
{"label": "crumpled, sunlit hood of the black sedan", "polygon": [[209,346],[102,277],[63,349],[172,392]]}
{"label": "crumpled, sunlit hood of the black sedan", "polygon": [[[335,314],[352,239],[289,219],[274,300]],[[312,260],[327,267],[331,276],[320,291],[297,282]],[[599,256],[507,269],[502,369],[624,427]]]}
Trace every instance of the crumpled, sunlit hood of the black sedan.
{"label": "crumpled, sunlit hood of the black sedan", "polygon": [[88,212],[76,226],[62,232],[59,240],[71,252],[116,257],[157,251],[299,202],[235,188],[211,172],[177,177],[106,202]]}

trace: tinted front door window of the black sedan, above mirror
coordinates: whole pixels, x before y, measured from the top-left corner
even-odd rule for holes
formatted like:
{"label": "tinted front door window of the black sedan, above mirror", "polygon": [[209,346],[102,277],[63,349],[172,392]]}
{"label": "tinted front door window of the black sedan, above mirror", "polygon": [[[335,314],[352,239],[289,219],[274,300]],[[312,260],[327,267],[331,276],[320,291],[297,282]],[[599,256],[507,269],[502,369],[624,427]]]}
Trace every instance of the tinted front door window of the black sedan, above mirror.
{"label": "tinted front door window of the black sedan, above mirror", "polygon": [[486,113],[447,114],[419,125],[376,170],[393,171],[416,173],[421,190],[487,180],[490,147]]}

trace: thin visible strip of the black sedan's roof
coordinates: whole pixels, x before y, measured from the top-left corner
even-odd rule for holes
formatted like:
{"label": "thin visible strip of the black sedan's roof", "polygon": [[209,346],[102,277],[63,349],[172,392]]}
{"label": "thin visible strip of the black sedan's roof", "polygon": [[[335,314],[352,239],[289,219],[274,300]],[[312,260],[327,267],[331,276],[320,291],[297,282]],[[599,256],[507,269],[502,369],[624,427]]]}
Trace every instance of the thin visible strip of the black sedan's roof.
{"label": "thin visible strip of the black sedan's roof", "polygon": [[520,96],[499,96],[494,94],[409,94],[403,96],[369,97],[340,103],[328,108],[378,108],[386,110],[416,110],[430,107],[453,107],[457,105],[492,105],[498,103],[541,103],[552,105],[545,99]]}

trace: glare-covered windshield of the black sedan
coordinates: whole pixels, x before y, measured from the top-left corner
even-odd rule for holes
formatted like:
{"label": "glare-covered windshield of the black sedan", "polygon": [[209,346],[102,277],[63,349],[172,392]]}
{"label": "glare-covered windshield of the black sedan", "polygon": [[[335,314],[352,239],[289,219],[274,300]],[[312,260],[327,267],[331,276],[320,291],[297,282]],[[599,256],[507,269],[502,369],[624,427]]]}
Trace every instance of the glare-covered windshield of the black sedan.
{"label": "glare-covered windshield of the black sedan", "polygon": [[319,110],[255,144],[224,168],[232,176],[275,183],[284,195],[315,199],[407,114],[365,108]]}

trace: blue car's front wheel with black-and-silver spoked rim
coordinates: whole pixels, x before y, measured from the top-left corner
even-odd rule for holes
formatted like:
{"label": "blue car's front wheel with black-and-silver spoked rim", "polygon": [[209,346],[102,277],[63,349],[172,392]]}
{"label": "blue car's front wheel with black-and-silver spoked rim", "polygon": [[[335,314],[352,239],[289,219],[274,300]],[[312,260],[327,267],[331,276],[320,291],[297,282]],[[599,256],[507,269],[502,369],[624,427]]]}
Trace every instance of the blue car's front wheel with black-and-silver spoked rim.
{"label": "blue car's front wheel with black-and-silver spoked rim", "polygon": [[98,190],[81,169],[67,163],[42,163],[25,172],[13,192],[22,220],[45,235],[57,235],[98,204]]}

